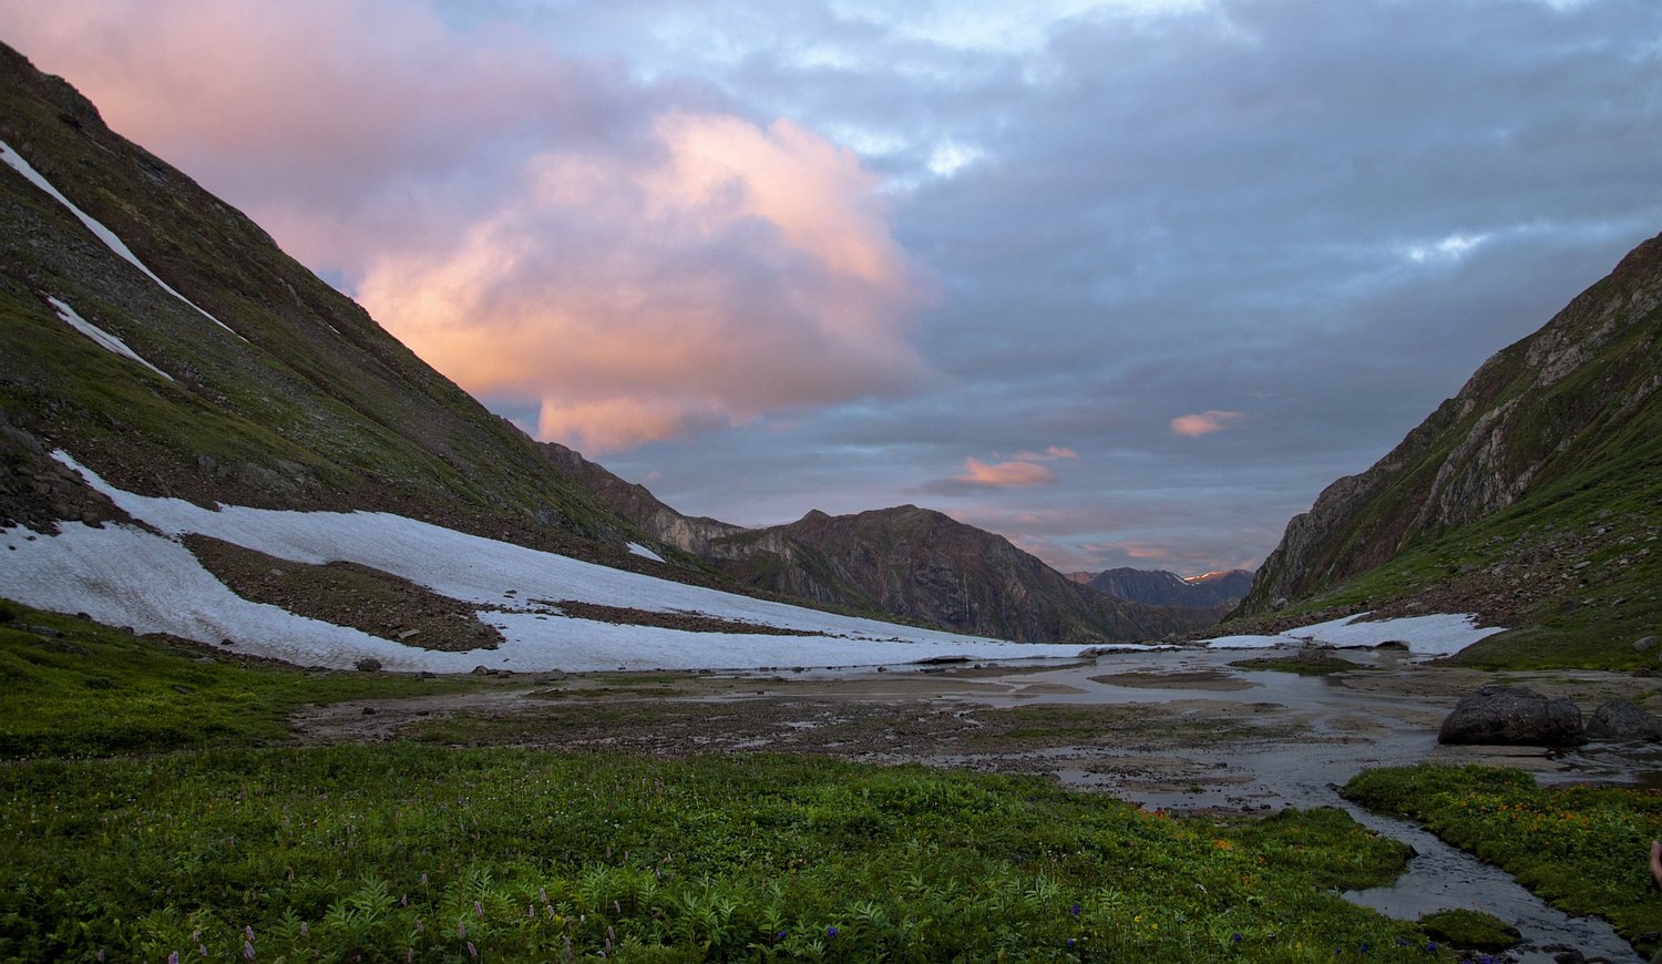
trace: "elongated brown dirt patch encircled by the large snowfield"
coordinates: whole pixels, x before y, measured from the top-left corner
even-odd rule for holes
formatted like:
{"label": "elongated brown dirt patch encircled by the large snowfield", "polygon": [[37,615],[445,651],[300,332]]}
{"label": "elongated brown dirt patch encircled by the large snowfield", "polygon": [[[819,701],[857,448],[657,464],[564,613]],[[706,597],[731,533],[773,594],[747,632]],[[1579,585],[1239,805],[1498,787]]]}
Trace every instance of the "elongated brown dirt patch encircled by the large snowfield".
{"label": "elongated brown dirt patch encircled by the large snowfield", "polygon": [[495,627],[474,615],[479,607],[379,568],[289,562],[208,535],[184,535],[181,542],[208,572],[251,602],[424,650],[494,650],[504,642]]}

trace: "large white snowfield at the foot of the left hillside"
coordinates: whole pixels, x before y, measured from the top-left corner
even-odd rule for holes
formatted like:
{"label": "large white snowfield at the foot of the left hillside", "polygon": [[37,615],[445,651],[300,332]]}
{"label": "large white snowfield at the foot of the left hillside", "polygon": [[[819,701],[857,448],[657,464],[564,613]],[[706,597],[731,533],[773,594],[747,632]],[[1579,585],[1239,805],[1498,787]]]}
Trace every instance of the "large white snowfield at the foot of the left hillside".
{"label": "large white snowfield at the foot of the left hillside", "polygon": [[[1072,643],[1010,643],[839,617],[681,585],[465,535],[384,512],[284,512],[123,492],[70,455],[55,459],[80,472],[135,519],[93,529],[63,522],[58,535],[0,530],[5,568],[0,595],[55,612],[166,632],[203,643],[233,640],[236,652],[301,665],[351,668],[381,660],[387,670],[460,673],[474,666],[537,670],[756,668],[906,663],[932,657],[1077,657]],[[479,607],[500,628],[495,650],[442,653],[297,617],[248,602],[201,567],[176,537],[201,534],[297,563],[356,562]],[[652,612],[703,613],[758,627],[813,635],[691,633],[612,625],[565,617],[557,605],[577,600]],[[535,608],[537,612],[515,612]]]}

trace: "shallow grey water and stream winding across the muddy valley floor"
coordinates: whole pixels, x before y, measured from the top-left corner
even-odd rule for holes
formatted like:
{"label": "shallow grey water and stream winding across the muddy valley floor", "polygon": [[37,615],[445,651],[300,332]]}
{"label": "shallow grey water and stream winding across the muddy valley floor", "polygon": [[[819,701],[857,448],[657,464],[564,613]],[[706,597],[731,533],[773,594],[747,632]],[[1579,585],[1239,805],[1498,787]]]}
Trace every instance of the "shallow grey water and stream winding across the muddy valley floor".
{"label": "shallow grey water and stream winding across the muddy valley floor", "polygon": [[[1275,710],[1298,715],[1313,736],[1296,745],[1266,743],[1228,745],[1218,750],[1182,750],[1150,753],[1182,756],[1192,766],[1210,768],[1223,780],[1197,781],[1187,791],[1150,791],[1125,783],[1115,775],[1089,768],[1069,768],[1069,755],[1055,755],[1055,773],[1069,784],[1109,789],[1145,808],[1173,809],[1280,809],[1285,806],[1340,806],[1365,826],[1414,848],[1403,876],[1389,888],[1345,894],[1358,904],[1374,907],[1399,919],[1444,907],[1484,911],[1512,922],[1522,932],[1522,944],[1502,959],[1551,962],[1552,952],[1576,949],[1587,957],[1642,961],[1615,931],[1596,917],[1572,917],[1526,891],[1507,873],[1444,844],[1413,823],[1366,811],[1343,799],[1336,788],[1366,766],[1399,766],[1436,760],[1436,725],[1453,706],[1451,696],[1414,696],[1401,693],[1366,693],[1350,690],[1326,676],[1246,671],[1230,662],[1265,655],[1243,652],[1165,652],[1110,653],[1084,665],[1054,671],[1022,673],[999,678],[1006,691],[964,693],[961,698],[996,706],[1067,703],[1128,705],[1182,703],[1193,700],[1245,705],[1275,705]],[[1363,665],[1406,662],[1401,653],[1341,653]],[[1092,676],[1115,673],[1182,675],[1178,686],[1167,688],[1158,680],[1138,678],[1138,685],[1115,685]],[[1203,680],[1197,683],[1193,680]],[[1157,683],[1157,685],[1148,685]],[[1240,686],[1245,683],[1245,686]],[[1662,786],[1662,750],[1655,746],[1592,746],[1572,753],[1549,755],[1534,748],[1501,751],[1507,763],[1536,771],[1541,783],[1640,783]],[[1135,756],[1135,751],[1117,753]],[[1213,776],[1213,775],[1208,775]],[[1644,854],[1635,854],[1642,861]]]}

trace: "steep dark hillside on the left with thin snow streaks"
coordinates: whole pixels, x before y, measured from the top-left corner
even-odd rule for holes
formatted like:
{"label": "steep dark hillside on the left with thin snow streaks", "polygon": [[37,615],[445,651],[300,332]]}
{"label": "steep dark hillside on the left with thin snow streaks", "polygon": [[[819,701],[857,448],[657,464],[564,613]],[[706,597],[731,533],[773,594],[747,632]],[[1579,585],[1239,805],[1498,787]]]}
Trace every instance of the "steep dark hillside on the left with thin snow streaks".
{"label": "steep dark hillside on the left with thin snow streaks", "polygon": [[384,509],[640,565],[638,530],[0,47],[0,524],[113,514],[45,459],[198,504]]}

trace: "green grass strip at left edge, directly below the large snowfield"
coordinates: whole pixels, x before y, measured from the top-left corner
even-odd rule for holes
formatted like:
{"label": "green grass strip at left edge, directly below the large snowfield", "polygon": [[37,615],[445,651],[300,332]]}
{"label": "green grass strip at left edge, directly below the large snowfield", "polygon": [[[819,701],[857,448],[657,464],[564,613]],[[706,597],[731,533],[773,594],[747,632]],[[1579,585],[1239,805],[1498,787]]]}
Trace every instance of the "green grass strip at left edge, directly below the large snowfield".
{"label": "green grass strip at left edge, directly below the large snowfield", "polygon": [[[75,617],[0,603],[0,756],[153,753],[288,740],[306,703],[474,686],[389,673],[243,665],[233,650],[161,643]],[[201,662],[201,660],[209,662]]]}

